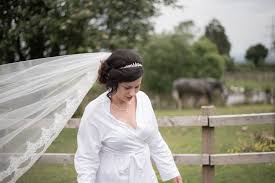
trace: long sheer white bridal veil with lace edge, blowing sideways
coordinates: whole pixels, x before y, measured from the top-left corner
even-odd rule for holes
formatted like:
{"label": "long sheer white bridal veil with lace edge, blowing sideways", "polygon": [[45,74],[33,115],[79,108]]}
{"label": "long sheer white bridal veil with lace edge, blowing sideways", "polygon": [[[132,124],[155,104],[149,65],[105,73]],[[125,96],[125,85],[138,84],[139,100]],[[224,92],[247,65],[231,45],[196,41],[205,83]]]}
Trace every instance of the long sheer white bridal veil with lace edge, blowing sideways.
{"label": "long sheer white bridal veil with lace edge, blowing sideways", "polygon": [[0,182],[15,182],[49,147],[110,53],[0,65]]}

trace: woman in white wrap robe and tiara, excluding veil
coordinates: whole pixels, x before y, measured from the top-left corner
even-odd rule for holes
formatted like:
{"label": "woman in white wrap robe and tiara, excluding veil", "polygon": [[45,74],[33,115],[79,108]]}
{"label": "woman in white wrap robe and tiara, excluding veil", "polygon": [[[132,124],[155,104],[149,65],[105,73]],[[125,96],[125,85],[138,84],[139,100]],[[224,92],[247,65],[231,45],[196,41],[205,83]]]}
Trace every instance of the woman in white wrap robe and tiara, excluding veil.
{"label": "woman in white wrap robe and tiara, excluding veil", "polygon": [[74,160],[78,183],[157,183],[150,157],[163,181],[182,183],[151,102],[139,90],[141,58],[117,50],[98,74],[108,90],[86,106],[81,118]]}

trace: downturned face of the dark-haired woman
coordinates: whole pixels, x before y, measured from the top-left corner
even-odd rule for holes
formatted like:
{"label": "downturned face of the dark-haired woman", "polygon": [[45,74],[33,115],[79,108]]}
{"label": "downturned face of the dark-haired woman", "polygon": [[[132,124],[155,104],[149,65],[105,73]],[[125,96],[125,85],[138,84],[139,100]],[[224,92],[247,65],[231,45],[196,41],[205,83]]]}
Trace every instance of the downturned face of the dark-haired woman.
{"label": "downturned face of the dark-haired woman", "polygon": [[123,102],[130,102],[140,89],[142,77],[132,82],[121,82],[118,84],[117,91],[114,94]]}

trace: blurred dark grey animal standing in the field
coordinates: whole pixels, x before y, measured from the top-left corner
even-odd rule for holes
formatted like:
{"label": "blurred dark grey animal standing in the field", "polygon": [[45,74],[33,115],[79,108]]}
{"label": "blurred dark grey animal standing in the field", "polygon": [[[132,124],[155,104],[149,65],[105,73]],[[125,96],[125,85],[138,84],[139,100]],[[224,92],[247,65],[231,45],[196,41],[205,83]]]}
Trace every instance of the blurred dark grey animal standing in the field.
{"label": "blurred dark grey animal standing in the field", "polygon": [[199,99],[206,96],[208,104],[213,102],[213,92],[218,90],[223,99],[227,96],[227,90],[224,84],[216,79],[195,79],[195,78],[179,78],[173,82],[172,95],[177,101],[177,107],[182,108],[183,96],[194,96],[196,107]]}

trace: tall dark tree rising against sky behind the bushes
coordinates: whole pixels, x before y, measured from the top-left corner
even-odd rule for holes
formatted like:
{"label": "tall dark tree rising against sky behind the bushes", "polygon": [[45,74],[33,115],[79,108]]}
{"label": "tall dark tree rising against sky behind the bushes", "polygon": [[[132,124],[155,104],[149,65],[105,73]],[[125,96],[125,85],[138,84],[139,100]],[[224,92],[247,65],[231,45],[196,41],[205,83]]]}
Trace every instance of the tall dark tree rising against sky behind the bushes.
{"label": "tall dark tree rising against sky behind the bushes", "polygon": [[216,44],[219,54],[229,56],[231,44],[219,20],[210,21],[205,28],[205,37]]}

